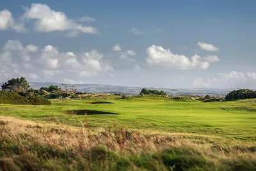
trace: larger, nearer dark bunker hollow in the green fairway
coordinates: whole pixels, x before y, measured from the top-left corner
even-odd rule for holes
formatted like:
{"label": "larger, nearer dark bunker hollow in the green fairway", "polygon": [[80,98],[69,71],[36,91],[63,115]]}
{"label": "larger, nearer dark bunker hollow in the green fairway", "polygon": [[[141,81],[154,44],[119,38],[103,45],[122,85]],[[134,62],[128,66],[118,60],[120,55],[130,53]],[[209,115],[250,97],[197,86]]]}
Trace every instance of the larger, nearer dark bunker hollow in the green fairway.
{"label": "larger, nearer dark bunker hollow in the green fairway", "polygon": [[112,112],[103,112],[98,110],[65,110],[63,114],[68,115],[118,115]]}

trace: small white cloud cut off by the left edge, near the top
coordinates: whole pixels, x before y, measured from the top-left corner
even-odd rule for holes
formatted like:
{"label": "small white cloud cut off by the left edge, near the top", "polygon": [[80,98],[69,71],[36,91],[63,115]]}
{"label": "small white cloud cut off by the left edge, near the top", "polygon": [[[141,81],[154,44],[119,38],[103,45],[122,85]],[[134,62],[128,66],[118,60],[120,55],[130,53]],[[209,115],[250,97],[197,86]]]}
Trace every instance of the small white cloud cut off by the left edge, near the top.
{"label": "small white cloud cut off by the left edge, near the top", "polygon": [[26,31],[22,20],[13,19],[10,11],[2,10],[0,11],[0,31],[7,30],[9,28],[17,31],[18,33]]}

